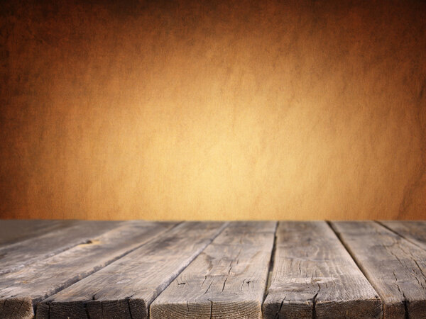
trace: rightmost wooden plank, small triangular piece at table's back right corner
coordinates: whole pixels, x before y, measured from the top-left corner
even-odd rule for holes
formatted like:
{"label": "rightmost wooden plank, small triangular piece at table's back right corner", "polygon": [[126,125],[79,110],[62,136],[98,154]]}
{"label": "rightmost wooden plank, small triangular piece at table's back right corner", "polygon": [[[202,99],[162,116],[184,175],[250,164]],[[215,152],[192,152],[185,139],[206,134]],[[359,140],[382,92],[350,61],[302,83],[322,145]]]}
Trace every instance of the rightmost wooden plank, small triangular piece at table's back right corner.
{"label": "rightmost wooden plank, small triangular piece at table's back right corner", "polygon": [[398,233],[409,242],[426,250],[426,221],[425,220],[381,220],[379,223]]}

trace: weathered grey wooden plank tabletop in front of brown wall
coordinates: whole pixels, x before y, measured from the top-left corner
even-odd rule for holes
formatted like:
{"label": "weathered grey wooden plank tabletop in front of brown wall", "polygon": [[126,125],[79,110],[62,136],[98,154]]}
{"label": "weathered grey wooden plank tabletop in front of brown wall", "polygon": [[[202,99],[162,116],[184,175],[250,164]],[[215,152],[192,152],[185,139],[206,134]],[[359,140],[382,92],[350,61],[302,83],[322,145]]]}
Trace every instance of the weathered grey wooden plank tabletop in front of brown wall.
{"label": "weathered grey wooden plank tabletop in front of brown wall", "polygon": [[426,222],[0,220],[0,318],[426,318]]}

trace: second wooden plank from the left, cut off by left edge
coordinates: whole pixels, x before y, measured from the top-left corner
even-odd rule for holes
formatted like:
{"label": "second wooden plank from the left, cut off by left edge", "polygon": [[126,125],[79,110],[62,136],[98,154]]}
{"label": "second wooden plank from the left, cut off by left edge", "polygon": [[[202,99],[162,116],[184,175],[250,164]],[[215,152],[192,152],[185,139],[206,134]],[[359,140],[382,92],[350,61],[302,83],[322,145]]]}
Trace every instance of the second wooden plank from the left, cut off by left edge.
{"label": "second wooden plank from the left, cut off by left edge", "polygon": [[13,272],[87,242],[120,225],[115,221],[78,220],[70,225],[0,248],[0,274]]}

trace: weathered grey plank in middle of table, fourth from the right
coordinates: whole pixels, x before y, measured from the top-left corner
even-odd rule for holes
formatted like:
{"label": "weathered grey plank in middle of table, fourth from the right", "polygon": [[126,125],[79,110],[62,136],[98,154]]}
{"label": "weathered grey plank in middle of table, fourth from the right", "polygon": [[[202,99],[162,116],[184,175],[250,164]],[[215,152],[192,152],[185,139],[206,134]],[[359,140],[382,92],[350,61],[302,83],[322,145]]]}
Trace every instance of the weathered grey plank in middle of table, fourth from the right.
{"label": "weathered grey plank in middle of table, fourth from the right", "polygon": [[232,223],[151,304],[151,319],[261,318],[275,222]]}

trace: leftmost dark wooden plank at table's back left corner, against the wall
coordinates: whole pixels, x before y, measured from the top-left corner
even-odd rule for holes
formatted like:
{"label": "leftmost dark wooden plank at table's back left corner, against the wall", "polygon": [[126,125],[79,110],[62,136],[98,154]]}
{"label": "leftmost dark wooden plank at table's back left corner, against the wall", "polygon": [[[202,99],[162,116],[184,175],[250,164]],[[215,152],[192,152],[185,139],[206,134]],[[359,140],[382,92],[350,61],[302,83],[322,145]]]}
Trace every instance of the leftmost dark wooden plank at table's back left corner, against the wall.
{"label": "leftmost dark wooden plank at table's back left corner, against the wall", "polygon": [[75,223],[77,220],[0,220],[0,247],[43,235],[58,228],[70,227]]}

